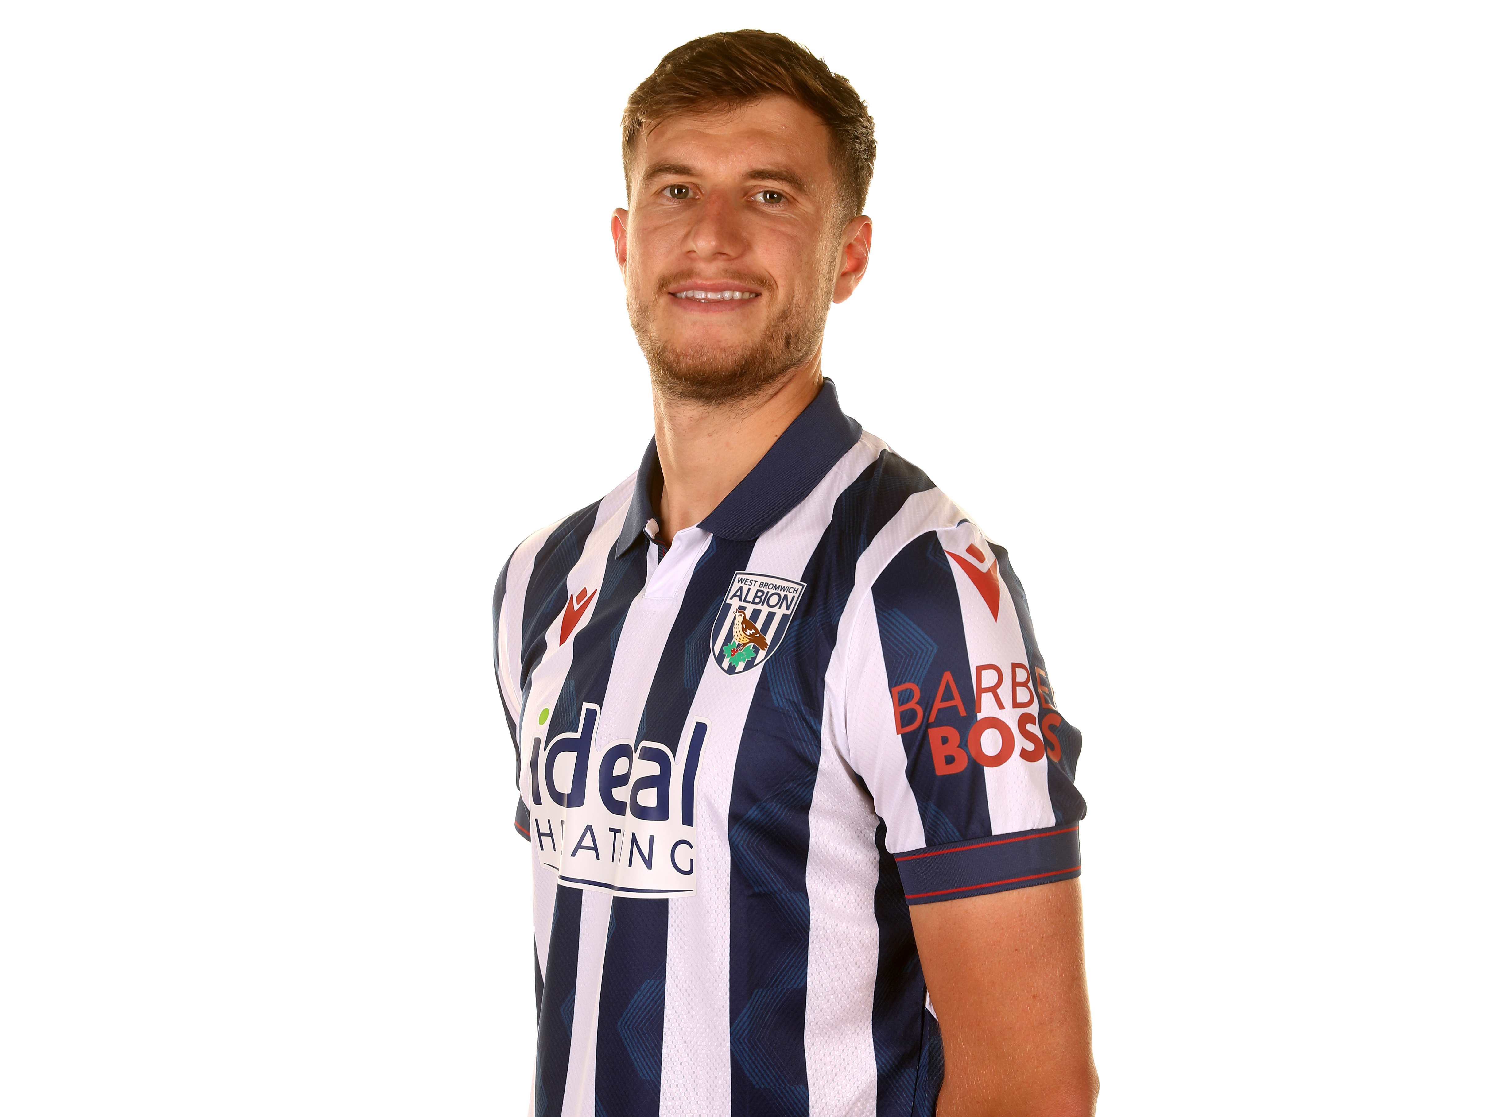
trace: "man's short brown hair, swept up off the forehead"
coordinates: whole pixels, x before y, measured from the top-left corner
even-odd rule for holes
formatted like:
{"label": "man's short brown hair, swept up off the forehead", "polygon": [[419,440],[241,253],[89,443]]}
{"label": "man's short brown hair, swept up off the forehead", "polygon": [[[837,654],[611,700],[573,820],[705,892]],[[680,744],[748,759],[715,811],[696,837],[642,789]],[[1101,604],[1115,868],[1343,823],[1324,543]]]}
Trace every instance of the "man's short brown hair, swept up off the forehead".
{"label": "man's short brown hair, swept up off the forehead", "polygon": [[831,136],[842,201],[864,211],[875,176],[875,118],[842,74],[800,43],[772,31],[717,31],[669,51],[621,113],[621,170],[632,194],[632,156],[642,131],[669,116],[784,94],[815,112]]}

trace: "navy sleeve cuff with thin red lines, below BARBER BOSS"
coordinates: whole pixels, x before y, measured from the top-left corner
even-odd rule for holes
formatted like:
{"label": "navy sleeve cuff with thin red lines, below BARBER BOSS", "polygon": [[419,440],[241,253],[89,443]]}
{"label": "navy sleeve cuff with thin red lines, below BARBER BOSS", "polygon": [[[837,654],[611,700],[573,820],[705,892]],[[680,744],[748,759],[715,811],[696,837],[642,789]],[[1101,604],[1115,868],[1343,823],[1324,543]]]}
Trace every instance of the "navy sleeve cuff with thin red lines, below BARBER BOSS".
{"label": "navy sleeve cuff with thin red lines, below BARBER BOSS", "polygon": [[895,853],[907,904],[1009,892],[1082,874],[1077,824]]}

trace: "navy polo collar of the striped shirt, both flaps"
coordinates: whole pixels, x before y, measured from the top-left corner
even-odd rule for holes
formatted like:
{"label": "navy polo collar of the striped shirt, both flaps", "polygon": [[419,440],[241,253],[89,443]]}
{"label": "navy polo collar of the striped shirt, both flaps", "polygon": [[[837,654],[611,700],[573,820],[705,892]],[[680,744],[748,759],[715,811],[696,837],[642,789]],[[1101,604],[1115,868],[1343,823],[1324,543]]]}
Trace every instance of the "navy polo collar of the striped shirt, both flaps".
{"label": "navy polo collar of the striped shirt, both flaps", "polygon": [[[864,432],[855,420],[843,414],[833,381],[822,380],[817,398],[781,432],[766,456],[755,463],[720,506],[699,524],[705,532],[724,539],[757,539],[781,517],[802,503],[828,469],[858,442]],[[657,439],[647,444],[642,465],[636,471],[632,506],[615,541],[618,558],[647,533],[647,521],[656,518],[651,490],[660,481]],[[662,487],[660,484],[657,486]]]}

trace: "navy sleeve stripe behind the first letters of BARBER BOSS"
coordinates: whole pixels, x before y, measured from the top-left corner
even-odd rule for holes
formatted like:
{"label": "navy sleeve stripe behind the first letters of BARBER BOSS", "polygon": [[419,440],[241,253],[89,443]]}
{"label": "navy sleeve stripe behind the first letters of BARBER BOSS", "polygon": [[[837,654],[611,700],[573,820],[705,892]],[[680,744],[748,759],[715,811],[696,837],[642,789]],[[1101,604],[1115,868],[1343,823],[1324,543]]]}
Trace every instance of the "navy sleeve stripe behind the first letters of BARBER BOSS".
{"label": "navy sleeve stripe behind the first letters of BARBER BOSS", "polygon": [[[907,727],[900,734],[906,749],[906,777],[921,810],[927,844],[991,834],[983,768],[967,754],[967,736],[977,719],[977,707],[967,666],[963,606],[952,581],[952,566],[936,532],[925,532],[906,544],[879,575],[875,581],[875,612],[891,697],[903,707],[900,724]],[[951,681],[943,684],[948,675]],[[906,688],[898,690],[901,685]],[[963,713],[955,706],[943,706],[933,722],[939,691],[943,701],[952,701],[954,696],[960,698]],[[912,701],[919,710],[912,707]],[[955,743],[963,749],[961,771],[936,771],[931,730],[939,727],[957,733]]]}

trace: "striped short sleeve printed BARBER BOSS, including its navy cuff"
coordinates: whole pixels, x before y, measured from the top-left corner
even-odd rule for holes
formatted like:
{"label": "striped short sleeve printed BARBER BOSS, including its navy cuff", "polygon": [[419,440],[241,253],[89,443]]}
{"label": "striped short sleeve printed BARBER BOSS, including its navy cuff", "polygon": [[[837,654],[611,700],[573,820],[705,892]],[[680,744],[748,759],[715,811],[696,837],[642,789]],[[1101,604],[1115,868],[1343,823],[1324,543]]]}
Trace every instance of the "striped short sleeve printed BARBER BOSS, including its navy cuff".
{"label": "striped short sleeve printed BARBER BOSS, including its navy cuff", "polygon": [[1055,704],[1024,587],[970,521],[928,530],[854,618],[849,763],[912,904],[1080,874],[1080,733]]}

